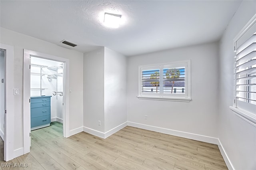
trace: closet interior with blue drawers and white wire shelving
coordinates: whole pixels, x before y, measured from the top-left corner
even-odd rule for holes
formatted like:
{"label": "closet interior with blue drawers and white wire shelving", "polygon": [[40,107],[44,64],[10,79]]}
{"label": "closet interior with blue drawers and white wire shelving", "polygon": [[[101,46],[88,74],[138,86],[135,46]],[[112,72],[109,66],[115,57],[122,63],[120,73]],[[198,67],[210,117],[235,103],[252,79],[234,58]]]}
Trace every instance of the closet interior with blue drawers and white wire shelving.
{"label": "closet interior with blue drawers and white wire shelving", "polygon": [[64,63],[30,57],[31,130],[63,123]]}

